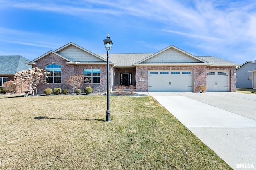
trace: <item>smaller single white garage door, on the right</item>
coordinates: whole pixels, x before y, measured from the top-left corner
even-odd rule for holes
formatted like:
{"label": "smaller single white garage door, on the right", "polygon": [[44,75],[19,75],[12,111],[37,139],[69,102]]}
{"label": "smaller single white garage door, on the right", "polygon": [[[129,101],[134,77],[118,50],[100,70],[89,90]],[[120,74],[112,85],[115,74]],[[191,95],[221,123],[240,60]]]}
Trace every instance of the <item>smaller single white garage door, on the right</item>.
{"label": "smaller single white garage door, on the right", "polygon": [[229,71],[207,71],[207,92],[228,92]]}

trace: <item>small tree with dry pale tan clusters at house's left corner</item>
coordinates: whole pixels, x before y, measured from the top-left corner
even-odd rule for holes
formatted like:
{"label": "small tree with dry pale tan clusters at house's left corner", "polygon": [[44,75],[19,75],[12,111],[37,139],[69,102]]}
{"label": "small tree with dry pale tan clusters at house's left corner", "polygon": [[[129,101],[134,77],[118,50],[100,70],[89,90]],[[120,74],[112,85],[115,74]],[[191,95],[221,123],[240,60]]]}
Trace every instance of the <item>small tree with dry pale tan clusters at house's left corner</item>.
{"label": "small tree with dry pale tan clusters at house's left corner", "polygon": [[[38,84],[44,84],[46,83],[46,78],[48,76],[45,76],[46,72],[43,69],[40,68],[28,68],[28,70],[22,70],[14,74],[14,78],[16,79],[17,84],[19,84],[19,79],[22,82],[25,82],[25,84],[28,84],[30,88],[32,89],[33,96],[34,96],[34,91],[36,90],[37,94],[37,86]],[[45,78],[46,77],[46,78]]]}

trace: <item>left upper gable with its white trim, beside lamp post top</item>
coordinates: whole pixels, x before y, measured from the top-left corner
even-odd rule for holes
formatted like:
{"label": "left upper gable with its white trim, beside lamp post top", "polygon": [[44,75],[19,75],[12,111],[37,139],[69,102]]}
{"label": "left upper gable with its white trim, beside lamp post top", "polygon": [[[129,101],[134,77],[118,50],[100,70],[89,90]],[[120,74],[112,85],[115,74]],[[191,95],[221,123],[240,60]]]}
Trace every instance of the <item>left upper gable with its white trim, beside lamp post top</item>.
{"label": "left upper gable with its white trim, beside lamp post top", "polygon": [[106,59],[70,42],[54,52],[76,62],[106,62]]}

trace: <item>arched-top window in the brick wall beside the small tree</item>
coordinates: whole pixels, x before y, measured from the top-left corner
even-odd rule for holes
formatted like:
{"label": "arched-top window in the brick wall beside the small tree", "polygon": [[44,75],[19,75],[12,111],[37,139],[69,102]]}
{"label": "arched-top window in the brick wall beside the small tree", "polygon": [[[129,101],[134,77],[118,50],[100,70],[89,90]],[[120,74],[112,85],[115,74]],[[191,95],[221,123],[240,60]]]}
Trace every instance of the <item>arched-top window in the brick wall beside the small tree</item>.
{"label": "arched-top window in the brick wall beside the small tree", "polygon": [[48,78],[46,78],[46,82],[48,83],[61,83],[61,66],[57,64],[50,64],[46,66],[46,73],[50,72],[50,74],[46,74]]}

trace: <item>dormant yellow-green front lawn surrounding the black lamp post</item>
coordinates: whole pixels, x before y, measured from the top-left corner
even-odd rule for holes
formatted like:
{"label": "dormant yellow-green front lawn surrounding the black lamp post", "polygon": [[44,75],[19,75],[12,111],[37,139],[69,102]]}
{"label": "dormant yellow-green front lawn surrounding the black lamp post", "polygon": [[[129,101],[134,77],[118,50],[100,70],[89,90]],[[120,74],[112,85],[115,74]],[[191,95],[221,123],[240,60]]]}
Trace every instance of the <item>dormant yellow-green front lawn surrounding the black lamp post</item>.
{"label": "dormant yellow-green front lawn surrounding the black lamp post", "polygon": [[0,169],[232,169],[150,96],[0,103]]}

